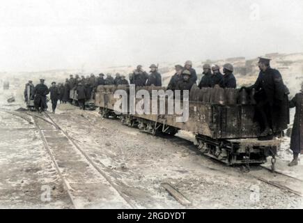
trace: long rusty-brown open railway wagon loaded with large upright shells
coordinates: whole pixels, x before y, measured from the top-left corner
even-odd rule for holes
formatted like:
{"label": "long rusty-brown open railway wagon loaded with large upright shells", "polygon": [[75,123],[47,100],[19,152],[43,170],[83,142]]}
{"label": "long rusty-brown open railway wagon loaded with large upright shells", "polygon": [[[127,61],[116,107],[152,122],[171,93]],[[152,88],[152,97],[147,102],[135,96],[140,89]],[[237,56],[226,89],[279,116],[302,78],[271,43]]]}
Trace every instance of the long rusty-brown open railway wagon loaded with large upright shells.
{"label": "long rusty-brown open railway wagon loaded with large upright shells", "polygon": [[[176,114],[117,115],[114,112],[114,105],[119,100],[114,98],[117,89],[125,89],[127,95],[130,95],[130,88],[127,86],[98,86],[95,105],[100,107],[102,116],[118,117],[122,123],[152,134],[158,132],[175,134],[178,130],[186,130],[195,134],[196,146],[204,155],[227,165],[246,164],[247,166],[263,164],[267,162],[267,157],[272,157],[272,169],[274,169],[275,156],[281,146],[281,140],[258,140],[261,129],[254,121],[253,95],[239,93],[236,89],[199,89],[194,85],[189,93],[189,118],[185,122],[177,122],[176,117],[180,115]],[[146,86],[137,87],[135,91],[141,89],[151,93],[153,90],[164,88]],[[137,103],[141,99],[134,100]],[[167,100],[166,97],[166,106]],[[174,103],[177,102],[175,100]],[[151,101],[150,105],[152,105]]]}

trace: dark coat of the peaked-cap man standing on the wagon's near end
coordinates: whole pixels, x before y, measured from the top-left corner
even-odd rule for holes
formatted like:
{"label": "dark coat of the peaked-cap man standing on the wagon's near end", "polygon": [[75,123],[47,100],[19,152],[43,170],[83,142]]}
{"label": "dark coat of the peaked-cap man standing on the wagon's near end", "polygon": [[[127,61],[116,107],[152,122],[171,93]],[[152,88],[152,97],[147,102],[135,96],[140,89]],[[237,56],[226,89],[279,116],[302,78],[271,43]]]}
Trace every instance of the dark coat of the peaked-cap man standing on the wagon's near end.
{"label": "dark coat of the peaked-cap man standing on the wagon's near end", "polygon": [[273,132],[285,130],[289,123],[288,89],[283,83],[279,70],[269,67],[265,72],[261,71],[256,83],[247,89],[256,89],[257,103],[268,104],[266,112]]}

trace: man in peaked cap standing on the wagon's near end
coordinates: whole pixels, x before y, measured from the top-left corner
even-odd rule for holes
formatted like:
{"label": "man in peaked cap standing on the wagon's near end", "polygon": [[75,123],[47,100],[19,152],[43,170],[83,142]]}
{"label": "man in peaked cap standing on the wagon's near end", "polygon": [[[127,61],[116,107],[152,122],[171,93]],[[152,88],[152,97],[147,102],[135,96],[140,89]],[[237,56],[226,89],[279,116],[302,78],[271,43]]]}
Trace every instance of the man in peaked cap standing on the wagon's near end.
{"label": "man in peaked cap standing on the wagon's near end", "polygon": [[256,118],[263,129],[261,137],[266,137],[287,128],[288,90],[283,84],[280,72],[270,68],[270,59],[260,57],[258,67],[260,73],[256,83],[248,88],[242,87],[241,90],[256,90]]}

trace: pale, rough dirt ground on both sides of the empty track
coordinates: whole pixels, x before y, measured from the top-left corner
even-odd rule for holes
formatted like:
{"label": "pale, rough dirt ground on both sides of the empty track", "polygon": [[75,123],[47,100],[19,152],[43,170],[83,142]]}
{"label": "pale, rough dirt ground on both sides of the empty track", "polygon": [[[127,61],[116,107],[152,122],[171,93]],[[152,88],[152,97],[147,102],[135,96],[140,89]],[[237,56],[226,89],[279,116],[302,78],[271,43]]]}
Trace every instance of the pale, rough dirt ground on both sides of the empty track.
{"label": "pale, rough dirt ground on both sides of the empty track", "polygon": [[[0,208],[74,208],[38,130],[24,118],[6,112],[24,107],[17,87],[10,93],[0,91]],[[16,102],[8,104],[6,99],[12,91]],[[59,105],[56,114],[49,115],[134,208],[303,207],[302,197],[204,157],[193,146],[178,145],[171,138],[154,137],[117,120],[103,119],[98,111]],[[64,144],[61,138],[53,141]],[[79,177],[83,174],[76,166],[75,171]],[[74,177],[70,180],[79,181],[77,174]],[[161,183],[176,187],[192,205],[182,206]],[[49,188],[50,200],[44,196]],[[104,199],[100,207],[107,202]]]}

